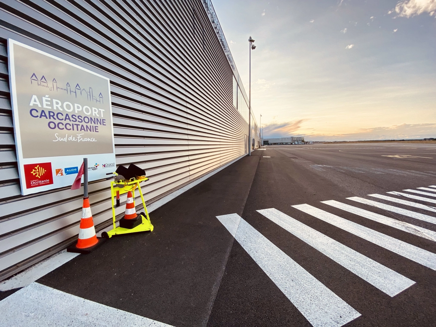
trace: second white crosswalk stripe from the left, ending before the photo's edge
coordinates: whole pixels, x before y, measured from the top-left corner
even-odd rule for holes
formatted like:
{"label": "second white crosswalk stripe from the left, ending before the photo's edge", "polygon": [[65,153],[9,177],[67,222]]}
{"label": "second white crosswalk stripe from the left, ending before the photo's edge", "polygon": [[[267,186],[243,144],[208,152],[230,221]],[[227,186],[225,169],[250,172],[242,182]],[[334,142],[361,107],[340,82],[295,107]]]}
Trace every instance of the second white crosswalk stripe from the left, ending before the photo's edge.
{"label": "second white crosswalk stripe from the left, ending before the photo's edge", "polygon": [[398,272],[369,259],[277,209],[257,211],[389,296],[395,296],[415,284],[414,281]]}

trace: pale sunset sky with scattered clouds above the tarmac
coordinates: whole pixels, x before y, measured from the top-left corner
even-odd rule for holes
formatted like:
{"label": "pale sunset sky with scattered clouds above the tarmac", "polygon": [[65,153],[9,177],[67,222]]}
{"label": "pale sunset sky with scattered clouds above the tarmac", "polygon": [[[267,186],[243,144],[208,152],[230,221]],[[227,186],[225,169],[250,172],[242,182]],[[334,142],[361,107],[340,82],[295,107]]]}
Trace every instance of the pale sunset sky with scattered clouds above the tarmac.
{"label": "pale sunset sky with scattered clouds above the tarmac", "polygon": [[213,0],[263,137],[436,137],[436,0]]}

